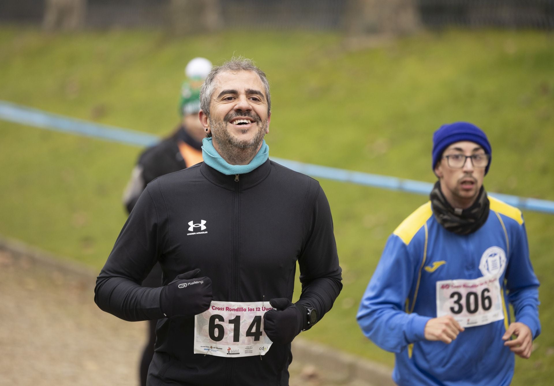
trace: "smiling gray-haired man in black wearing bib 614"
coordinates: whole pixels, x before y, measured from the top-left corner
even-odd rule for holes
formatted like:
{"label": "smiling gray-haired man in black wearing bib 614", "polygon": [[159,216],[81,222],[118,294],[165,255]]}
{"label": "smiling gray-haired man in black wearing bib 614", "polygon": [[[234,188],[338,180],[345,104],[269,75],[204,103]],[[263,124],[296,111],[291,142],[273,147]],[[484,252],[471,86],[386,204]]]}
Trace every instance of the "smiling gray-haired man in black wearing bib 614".
{"label": "smiling gray-haired man in black wearing bib 614", "polygon": [[[160,319],[148,385],[288,385],[291,341],[342,288],[329,203],[319,182],[268,159],[269,83],[252,62],[212,69],[200,99],[204,162],[148,184],[95,301]],[[164,286],[140,286],[157,261]]]}

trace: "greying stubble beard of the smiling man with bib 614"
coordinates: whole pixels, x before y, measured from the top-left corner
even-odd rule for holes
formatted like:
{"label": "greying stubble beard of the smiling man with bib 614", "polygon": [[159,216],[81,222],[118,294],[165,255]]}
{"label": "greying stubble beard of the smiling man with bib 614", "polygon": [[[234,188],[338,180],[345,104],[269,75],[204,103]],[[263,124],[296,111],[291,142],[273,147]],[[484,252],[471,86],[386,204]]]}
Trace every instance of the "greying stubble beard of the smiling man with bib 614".
{"label": "greying stubble beard of the smiling man with bib 614", "polygon": [[[228,119],[212,121],[211,132],[213,140],[219,146],[219,154],[228,164],[239,165],[250,161],[258,152],[259,145],[264,139],[265,130],[268,128],[268,121],[257,120],[258,131],[251,140],[240,140],[227,130]],[[243,133],[244,134],[244,133]]]}

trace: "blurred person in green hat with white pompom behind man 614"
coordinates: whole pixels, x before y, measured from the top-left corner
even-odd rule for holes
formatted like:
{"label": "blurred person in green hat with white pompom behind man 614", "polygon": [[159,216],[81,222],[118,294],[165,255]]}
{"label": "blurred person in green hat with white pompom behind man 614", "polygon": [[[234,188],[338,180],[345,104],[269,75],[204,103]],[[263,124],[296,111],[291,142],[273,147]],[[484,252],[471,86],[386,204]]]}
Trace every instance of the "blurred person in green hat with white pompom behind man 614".
{"label": "blurred person in green hat with white pompom behind man 614", "polygon": [[[184,72],[188,79],[181,87],[179,103],[181,123],[173,134],[146,149],[139,156],[139,161],[132,171],[131,180],[123,195],[123,202],[129,213],[150,181],[202,162],[202,139],[206,136],[206,131],[198,119],[200,88],[211,69],[212,63],[205,58],[194,58],[187,64]],[[162,285],[162,270],[159,263],[152,268],[142,285],[145,287]],[[141,385],[146,385],[148,366],[154,354],[156,322],[148,321],[148,341],[140,363]]]}

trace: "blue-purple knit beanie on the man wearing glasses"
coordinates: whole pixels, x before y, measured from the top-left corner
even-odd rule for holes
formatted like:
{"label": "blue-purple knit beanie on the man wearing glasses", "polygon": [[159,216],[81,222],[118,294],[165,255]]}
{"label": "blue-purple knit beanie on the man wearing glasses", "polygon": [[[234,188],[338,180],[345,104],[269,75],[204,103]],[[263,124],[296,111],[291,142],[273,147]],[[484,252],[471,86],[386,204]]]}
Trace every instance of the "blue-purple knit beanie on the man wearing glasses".
{"label": "blue-purple knit beanie on the man wearing glasses", "polygon": [[485,168],[485,174],[489,172],[490,162],[493,160],[493,149],[490,147],[489,140],[483,130],[469,122],[454,122],[440,126],[433,134],[433,165],[431,169],[435,170],[435,165],[440,161],[444,149],[455,142],[471,141],[475,142],[485,153],[489,155],[489,165]]}

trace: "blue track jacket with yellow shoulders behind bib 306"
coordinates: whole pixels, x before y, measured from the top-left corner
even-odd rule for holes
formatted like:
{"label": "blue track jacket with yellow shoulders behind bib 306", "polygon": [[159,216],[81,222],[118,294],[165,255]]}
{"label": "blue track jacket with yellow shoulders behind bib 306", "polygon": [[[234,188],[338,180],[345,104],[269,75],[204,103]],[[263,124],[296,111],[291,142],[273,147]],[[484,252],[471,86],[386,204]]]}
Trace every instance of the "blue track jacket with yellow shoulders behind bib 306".
{"label": "blue track jacket with yellow shoulders behind bib 306", "polygon": [[[457,235],[440,225],[431,203],[407,217],[388,238],[363,295],[357,320],[377,346],[396,354],[393,380],[399,385],[509,385],[514,353],[502,335],[517,322],[540,334],[538,280],[529,260],[521,211],[489,197],[490,214],[479,230]],[[435,282],[476,279],[485,251],[505,253],[499,276],[504,320],[466,327],[450,344],[424,339],[425,323],[437,316]]]}

